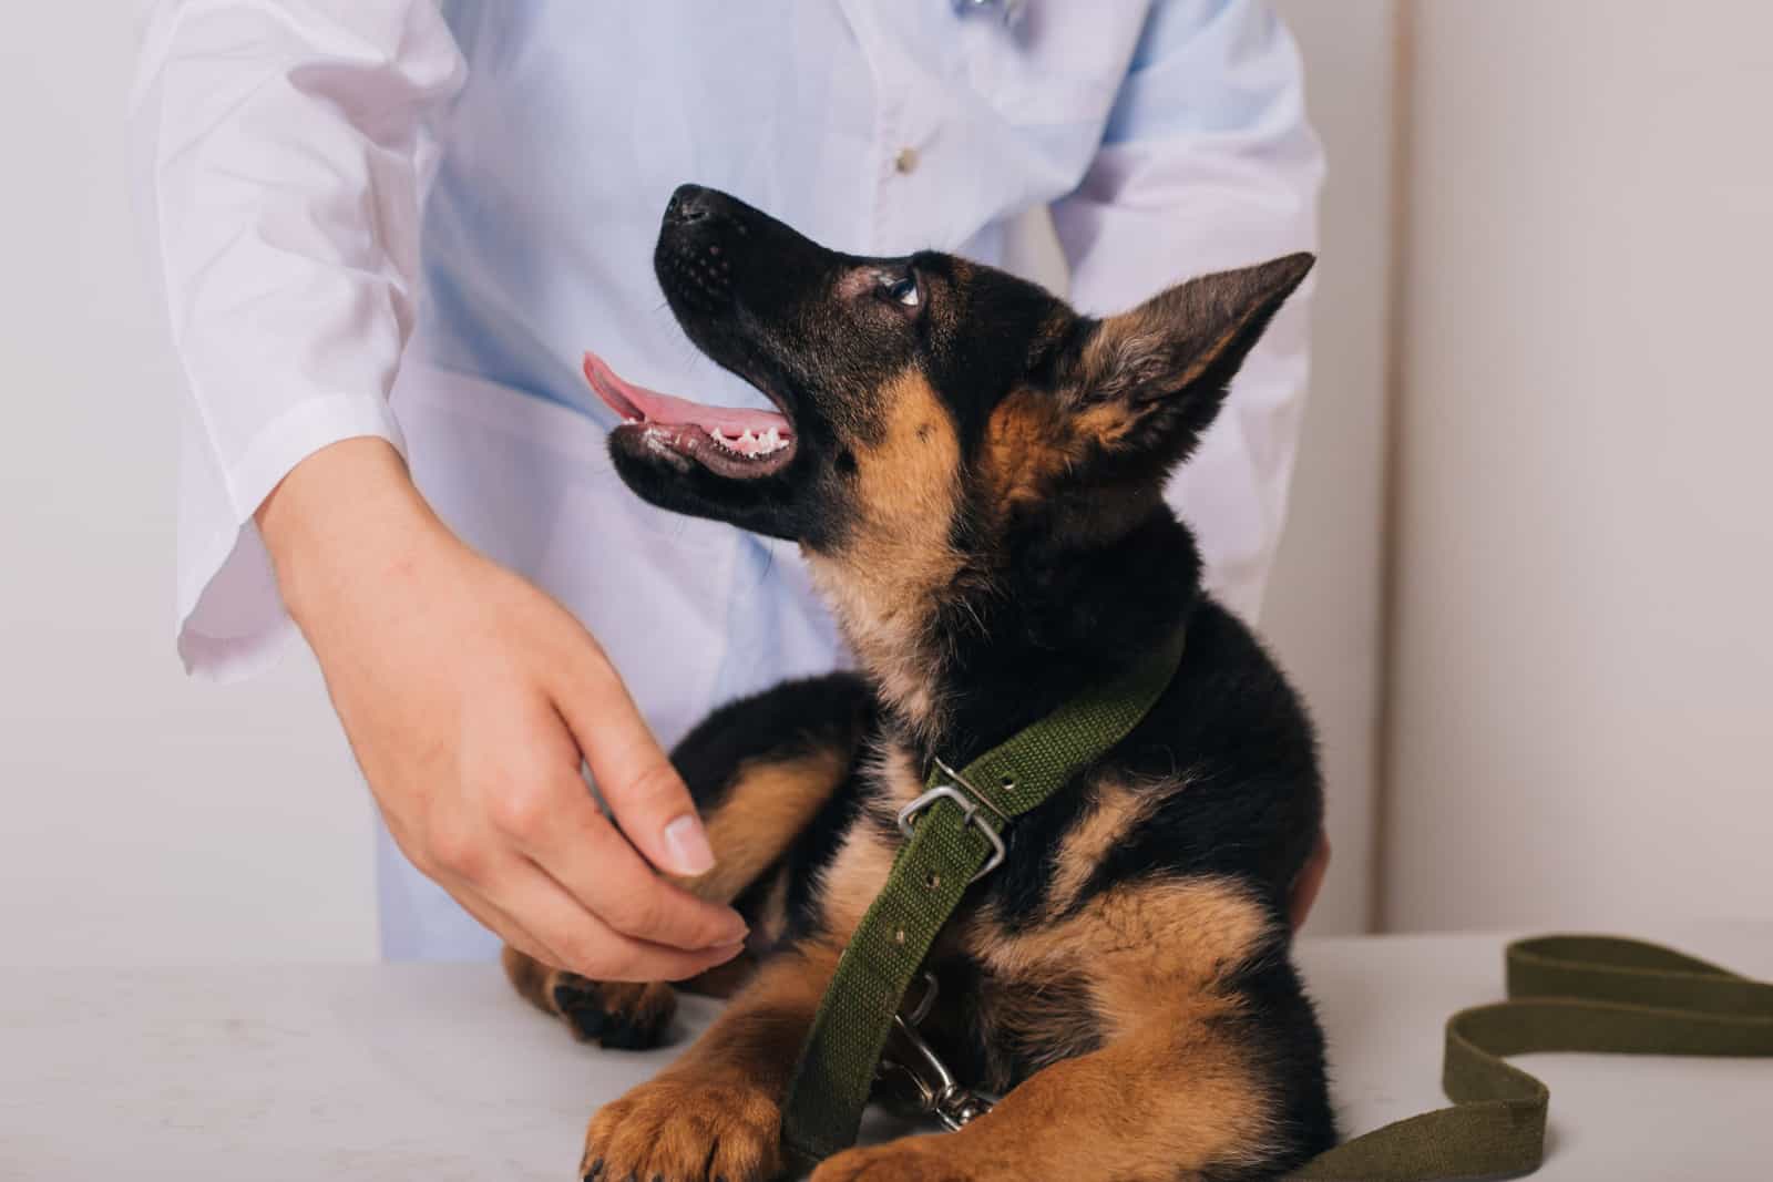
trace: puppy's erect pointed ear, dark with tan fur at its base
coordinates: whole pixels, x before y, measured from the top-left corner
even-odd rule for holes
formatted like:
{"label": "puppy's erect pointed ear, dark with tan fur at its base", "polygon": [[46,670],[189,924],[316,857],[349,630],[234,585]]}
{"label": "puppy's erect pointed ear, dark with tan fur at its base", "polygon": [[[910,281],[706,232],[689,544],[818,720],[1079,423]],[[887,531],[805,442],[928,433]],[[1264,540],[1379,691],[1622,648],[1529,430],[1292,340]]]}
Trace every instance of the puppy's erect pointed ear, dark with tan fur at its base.
{"label": "puppy's erect pointed ear, dark with tan fur at its base", "polygon": [[1179,461],[1314,262],[1296,253],[1220,271],[1101,321],[1067,383],[1074,427],[1108,454],[1144,454],[1165,466]]}

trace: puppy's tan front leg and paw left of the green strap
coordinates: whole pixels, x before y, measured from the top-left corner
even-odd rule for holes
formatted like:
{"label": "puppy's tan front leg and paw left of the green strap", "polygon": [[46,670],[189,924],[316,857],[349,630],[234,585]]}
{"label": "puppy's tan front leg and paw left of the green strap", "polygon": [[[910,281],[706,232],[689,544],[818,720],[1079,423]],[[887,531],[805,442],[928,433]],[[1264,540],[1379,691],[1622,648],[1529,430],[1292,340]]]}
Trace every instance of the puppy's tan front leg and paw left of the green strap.
{"label": "puppy's tan front leg and paw left of the green strap", "polygon": [[839,950],[771,957],[684,1054],[590,1120],[580,1173],[598,1182],[762,1182],[782,1170],[782,1097]]}

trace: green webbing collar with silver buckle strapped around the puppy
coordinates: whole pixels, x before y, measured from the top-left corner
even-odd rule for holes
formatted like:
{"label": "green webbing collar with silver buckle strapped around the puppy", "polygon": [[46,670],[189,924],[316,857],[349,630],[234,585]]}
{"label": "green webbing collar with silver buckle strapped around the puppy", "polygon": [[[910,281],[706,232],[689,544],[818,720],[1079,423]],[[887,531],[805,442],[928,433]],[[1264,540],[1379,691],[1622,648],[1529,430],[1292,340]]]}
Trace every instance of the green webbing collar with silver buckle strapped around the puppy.
{"label": "green webbing collar with silver buckle strapped around the puppy", "polygon": [[1181,631],[1117,680],[1087,689],[991,748],[957,776],[936,767],[901,813],[910,840],[837,962],[782,1104],[782,1148],[810,1170],[849,1148],[906,989],[975,877],[1002,858],[1002,829],[1124,739],[1183,659]]}

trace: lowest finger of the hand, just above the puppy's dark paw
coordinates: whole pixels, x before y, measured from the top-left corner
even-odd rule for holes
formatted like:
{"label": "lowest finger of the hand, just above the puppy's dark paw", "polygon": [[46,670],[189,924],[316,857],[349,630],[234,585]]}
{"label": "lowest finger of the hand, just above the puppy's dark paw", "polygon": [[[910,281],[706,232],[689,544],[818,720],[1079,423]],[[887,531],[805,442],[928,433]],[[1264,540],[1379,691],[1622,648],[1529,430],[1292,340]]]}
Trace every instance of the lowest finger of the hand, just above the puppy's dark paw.
{"label": "lowest finger of the hand, just above the puppy's dark paw", "polygon": [[745,950],[738,941],[688,952],[624,936],[590,914],[541,867],[521,861],[504,868],[500,888],[488,900],[507,914],[521,914],[560,968],[603,982],[683,980],[725,964]]}

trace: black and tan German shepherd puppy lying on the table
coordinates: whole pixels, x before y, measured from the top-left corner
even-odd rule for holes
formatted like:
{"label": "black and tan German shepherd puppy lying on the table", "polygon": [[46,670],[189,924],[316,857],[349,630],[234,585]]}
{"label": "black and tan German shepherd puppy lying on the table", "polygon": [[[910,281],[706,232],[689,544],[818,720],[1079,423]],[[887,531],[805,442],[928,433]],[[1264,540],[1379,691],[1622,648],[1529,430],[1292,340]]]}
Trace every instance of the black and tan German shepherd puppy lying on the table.
{"label": "black and tan German shepherd puppy lying on the table", "polygon": [[[718,858],[688,886],[734,900],[768,948],[677,1061],[596,1113],[583,1177],[775,1177],[801,1040],[931,760],[965,767],[1184,626],[1158,704],[1011,824],[929,957],[924,1031],[1004,1099],[814,1178],[1255,1178],[1333,1143],[1289,960],[1287,888],[1323,810],[1312,728],[1202,594],[1163,500],[1310,266],[1209,275],[1097,321],[963,259],[860,259],[723,193],[670,198],[654,269],[672,312],[780,415],[587,358],[628,420],[617,471],[654,505],[800,542],[860,672],[727,705],[677,746]],[[649,1046],[672,1014],[663,984],[505,964],[605,1046]]]}

